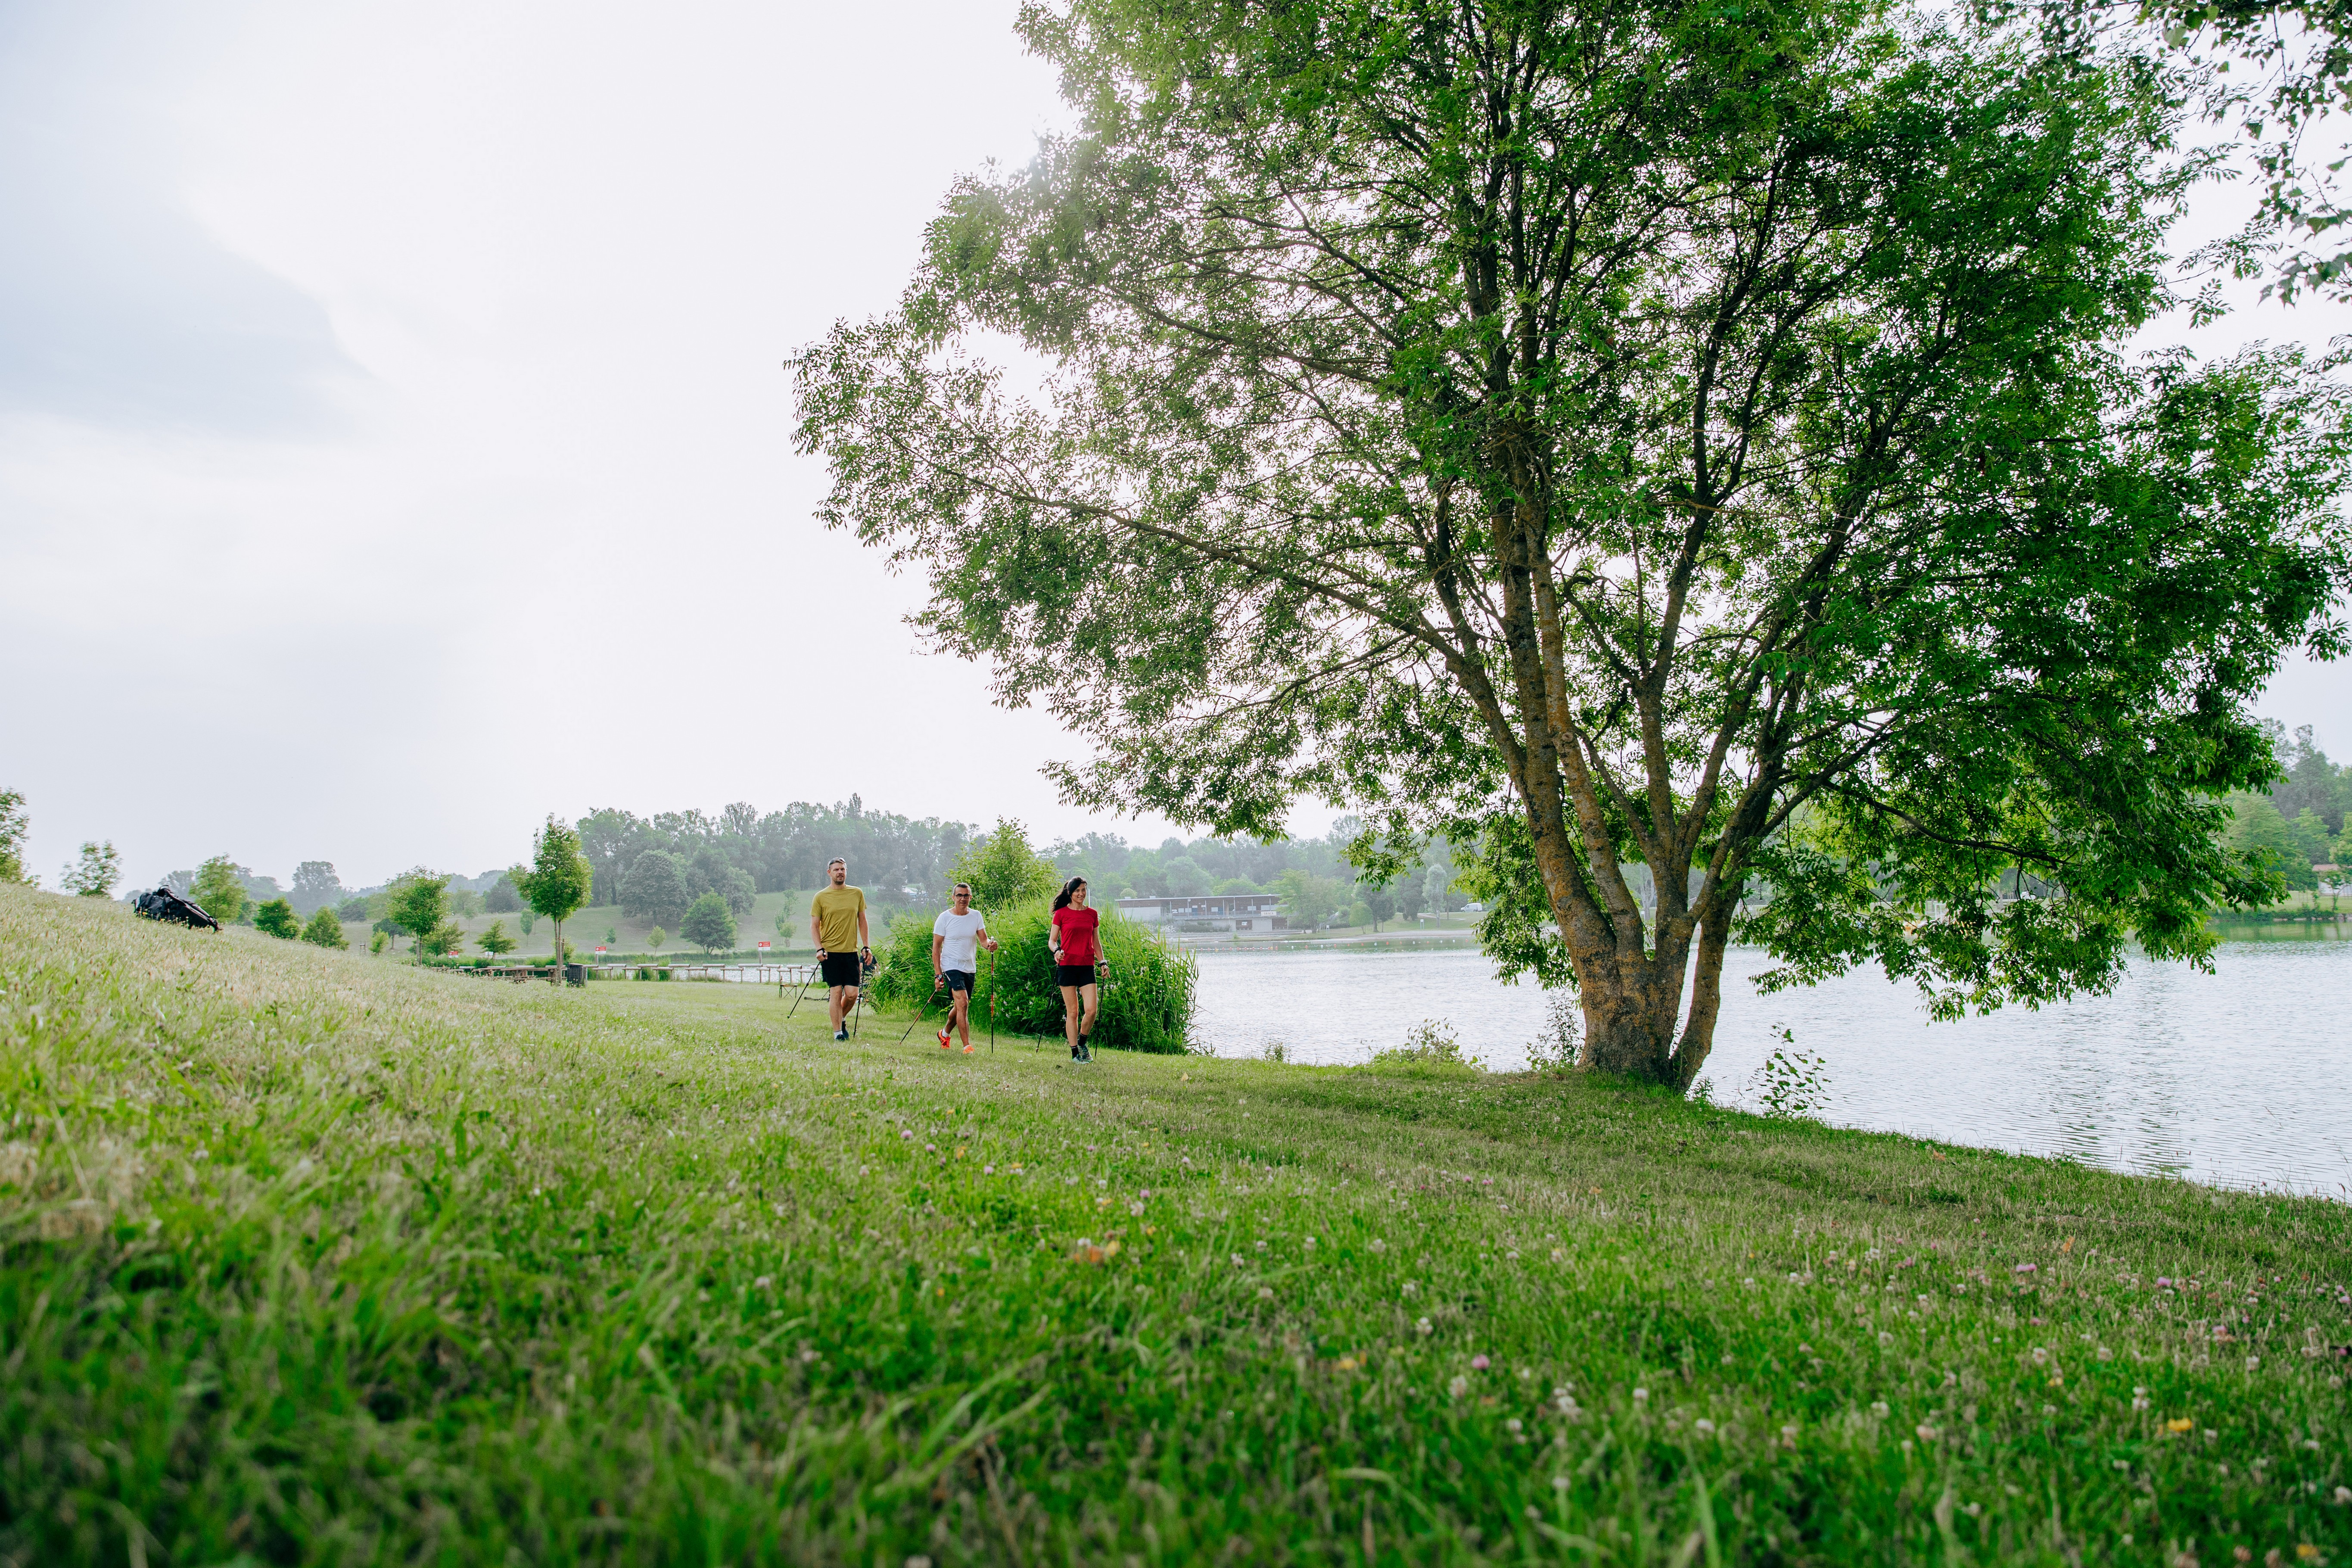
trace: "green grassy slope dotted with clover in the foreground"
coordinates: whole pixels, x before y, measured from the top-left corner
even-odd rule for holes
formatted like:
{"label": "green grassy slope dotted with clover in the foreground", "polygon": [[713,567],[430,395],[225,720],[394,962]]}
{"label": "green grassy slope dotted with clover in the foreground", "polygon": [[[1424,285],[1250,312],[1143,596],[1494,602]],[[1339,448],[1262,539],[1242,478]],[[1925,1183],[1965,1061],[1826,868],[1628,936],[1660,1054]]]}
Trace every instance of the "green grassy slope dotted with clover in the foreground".
{"label": "green grassy slope dotted with clover in the foreground", "polygon": [[0,889],[0,1559],[2352,1552],[2347,1208],[818,1027]]}

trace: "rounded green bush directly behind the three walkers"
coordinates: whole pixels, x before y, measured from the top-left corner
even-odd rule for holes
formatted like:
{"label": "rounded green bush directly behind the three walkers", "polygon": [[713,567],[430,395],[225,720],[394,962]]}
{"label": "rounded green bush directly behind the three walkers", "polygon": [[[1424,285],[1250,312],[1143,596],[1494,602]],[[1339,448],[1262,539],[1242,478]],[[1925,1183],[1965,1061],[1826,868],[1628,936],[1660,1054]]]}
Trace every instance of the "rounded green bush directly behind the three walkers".
{"label": "rounded green bush directly behind the three walkers", "polygon": [[[1054,985],[1054,959],[1047,952],[1047,905],[1030,903],[1007,914],[988,914],[988,936],[1002,943],[995,954],[997,1027],[1007,1034],[1061,1037],[1061,990]],[[1103,957],[1110,980],[1094,1020],[1094,1041],[1117,1051],[1188,1051],[1192,1030],[1192,985],[1200,966],[1188,952],[1171,952],[1143,926],[1103,912]],[[875,1006],[920,1006],[943,1011],[943,994],[931,994],[931,917],[901,914],[889,924],[875,954],[868,997]],[[981,952],[981,978],[971,992],[974,1025],[988,1023],[988,952]]]}

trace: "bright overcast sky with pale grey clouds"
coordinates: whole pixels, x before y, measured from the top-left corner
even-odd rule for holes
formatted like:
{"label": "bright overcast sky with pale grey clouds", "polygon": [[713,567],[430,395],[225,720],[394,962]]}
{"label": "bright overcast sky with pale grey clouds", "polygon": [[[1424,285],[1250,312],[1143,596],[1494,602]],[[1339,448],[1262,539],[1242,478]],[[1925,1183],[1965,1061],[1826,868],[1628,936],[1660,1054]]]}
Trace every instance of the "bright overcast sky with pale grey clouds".
{"label": "bright overcast sky with pale grey clouds", "polygon": [[[915,649],[790,451],[781,360],[1063,122],[1011,14],[0,0],[28,867],[111,837],[134,882],[358,886],[503,865],[548,811],[851,792],[1157,842],[1054,799],[1077,745]],[[2345,329],[2263,306],[2199,350]],[[2270,710],[2352,755],[2345,668]]]}

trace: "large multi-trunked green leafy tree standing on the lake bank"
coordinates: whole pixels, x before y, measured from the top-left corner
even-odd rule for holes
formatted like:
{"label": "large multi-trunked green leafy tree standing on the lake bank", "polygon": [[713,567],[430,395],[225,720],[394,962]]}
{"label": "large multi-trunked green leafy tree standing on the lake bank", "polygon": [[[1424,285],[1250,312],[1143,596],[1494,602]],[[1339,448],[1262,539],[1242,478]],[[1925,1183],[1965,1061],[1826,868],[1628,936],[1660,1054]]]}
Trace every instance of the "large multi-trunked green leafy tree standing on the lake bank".
{"label": "large multi-trunked green leafy tree standing on the lake bank", "polygon": [[1491,950],[1670,1084],[1766,882],[1776,980],[1938,1013],[2199,959],[2263,886],[2218,797],[2343,646],[2343,397],[2126,355],[2192,179],[2157,68],[1837,0],[1021,28],[1080,129],[795,374],[828,522],[1094,741],[1070,799],[1477,844]]}

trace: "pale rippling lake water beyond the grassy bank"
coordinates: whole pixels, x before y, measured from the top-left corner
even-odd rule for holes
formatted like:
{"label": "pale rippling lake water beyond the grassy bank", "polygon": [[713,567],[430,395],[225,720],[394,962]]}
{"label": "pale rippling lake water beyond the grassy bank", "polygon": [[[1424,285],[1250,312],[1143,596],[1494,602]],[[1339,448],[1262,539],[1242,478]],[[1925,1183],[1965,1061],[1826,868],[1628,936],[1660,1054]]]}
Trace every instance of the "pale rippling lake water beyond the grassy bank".
{"label": "pale rippling lake water beyond the grassy bank", "polygon": [[[2249,933],[2251,938],[2253,933]],[[1825,1119],[2114,1171],[2352,1199],[2352,940],[2227,940],[2213,973],[2136,959],[2107,997],[1929,1025],[1877,969],[1759,997],[1733,950],[1705,1077],[1757,1105],[1788,1027],[1828,1060]],[[1470,947],[1200,952],[1195,1034],[1218,1056],[1282,1041],[1294,1063],[1362,1063],[1423,1018],[1489,1067],[1526,1065],[1545,994]]]}

